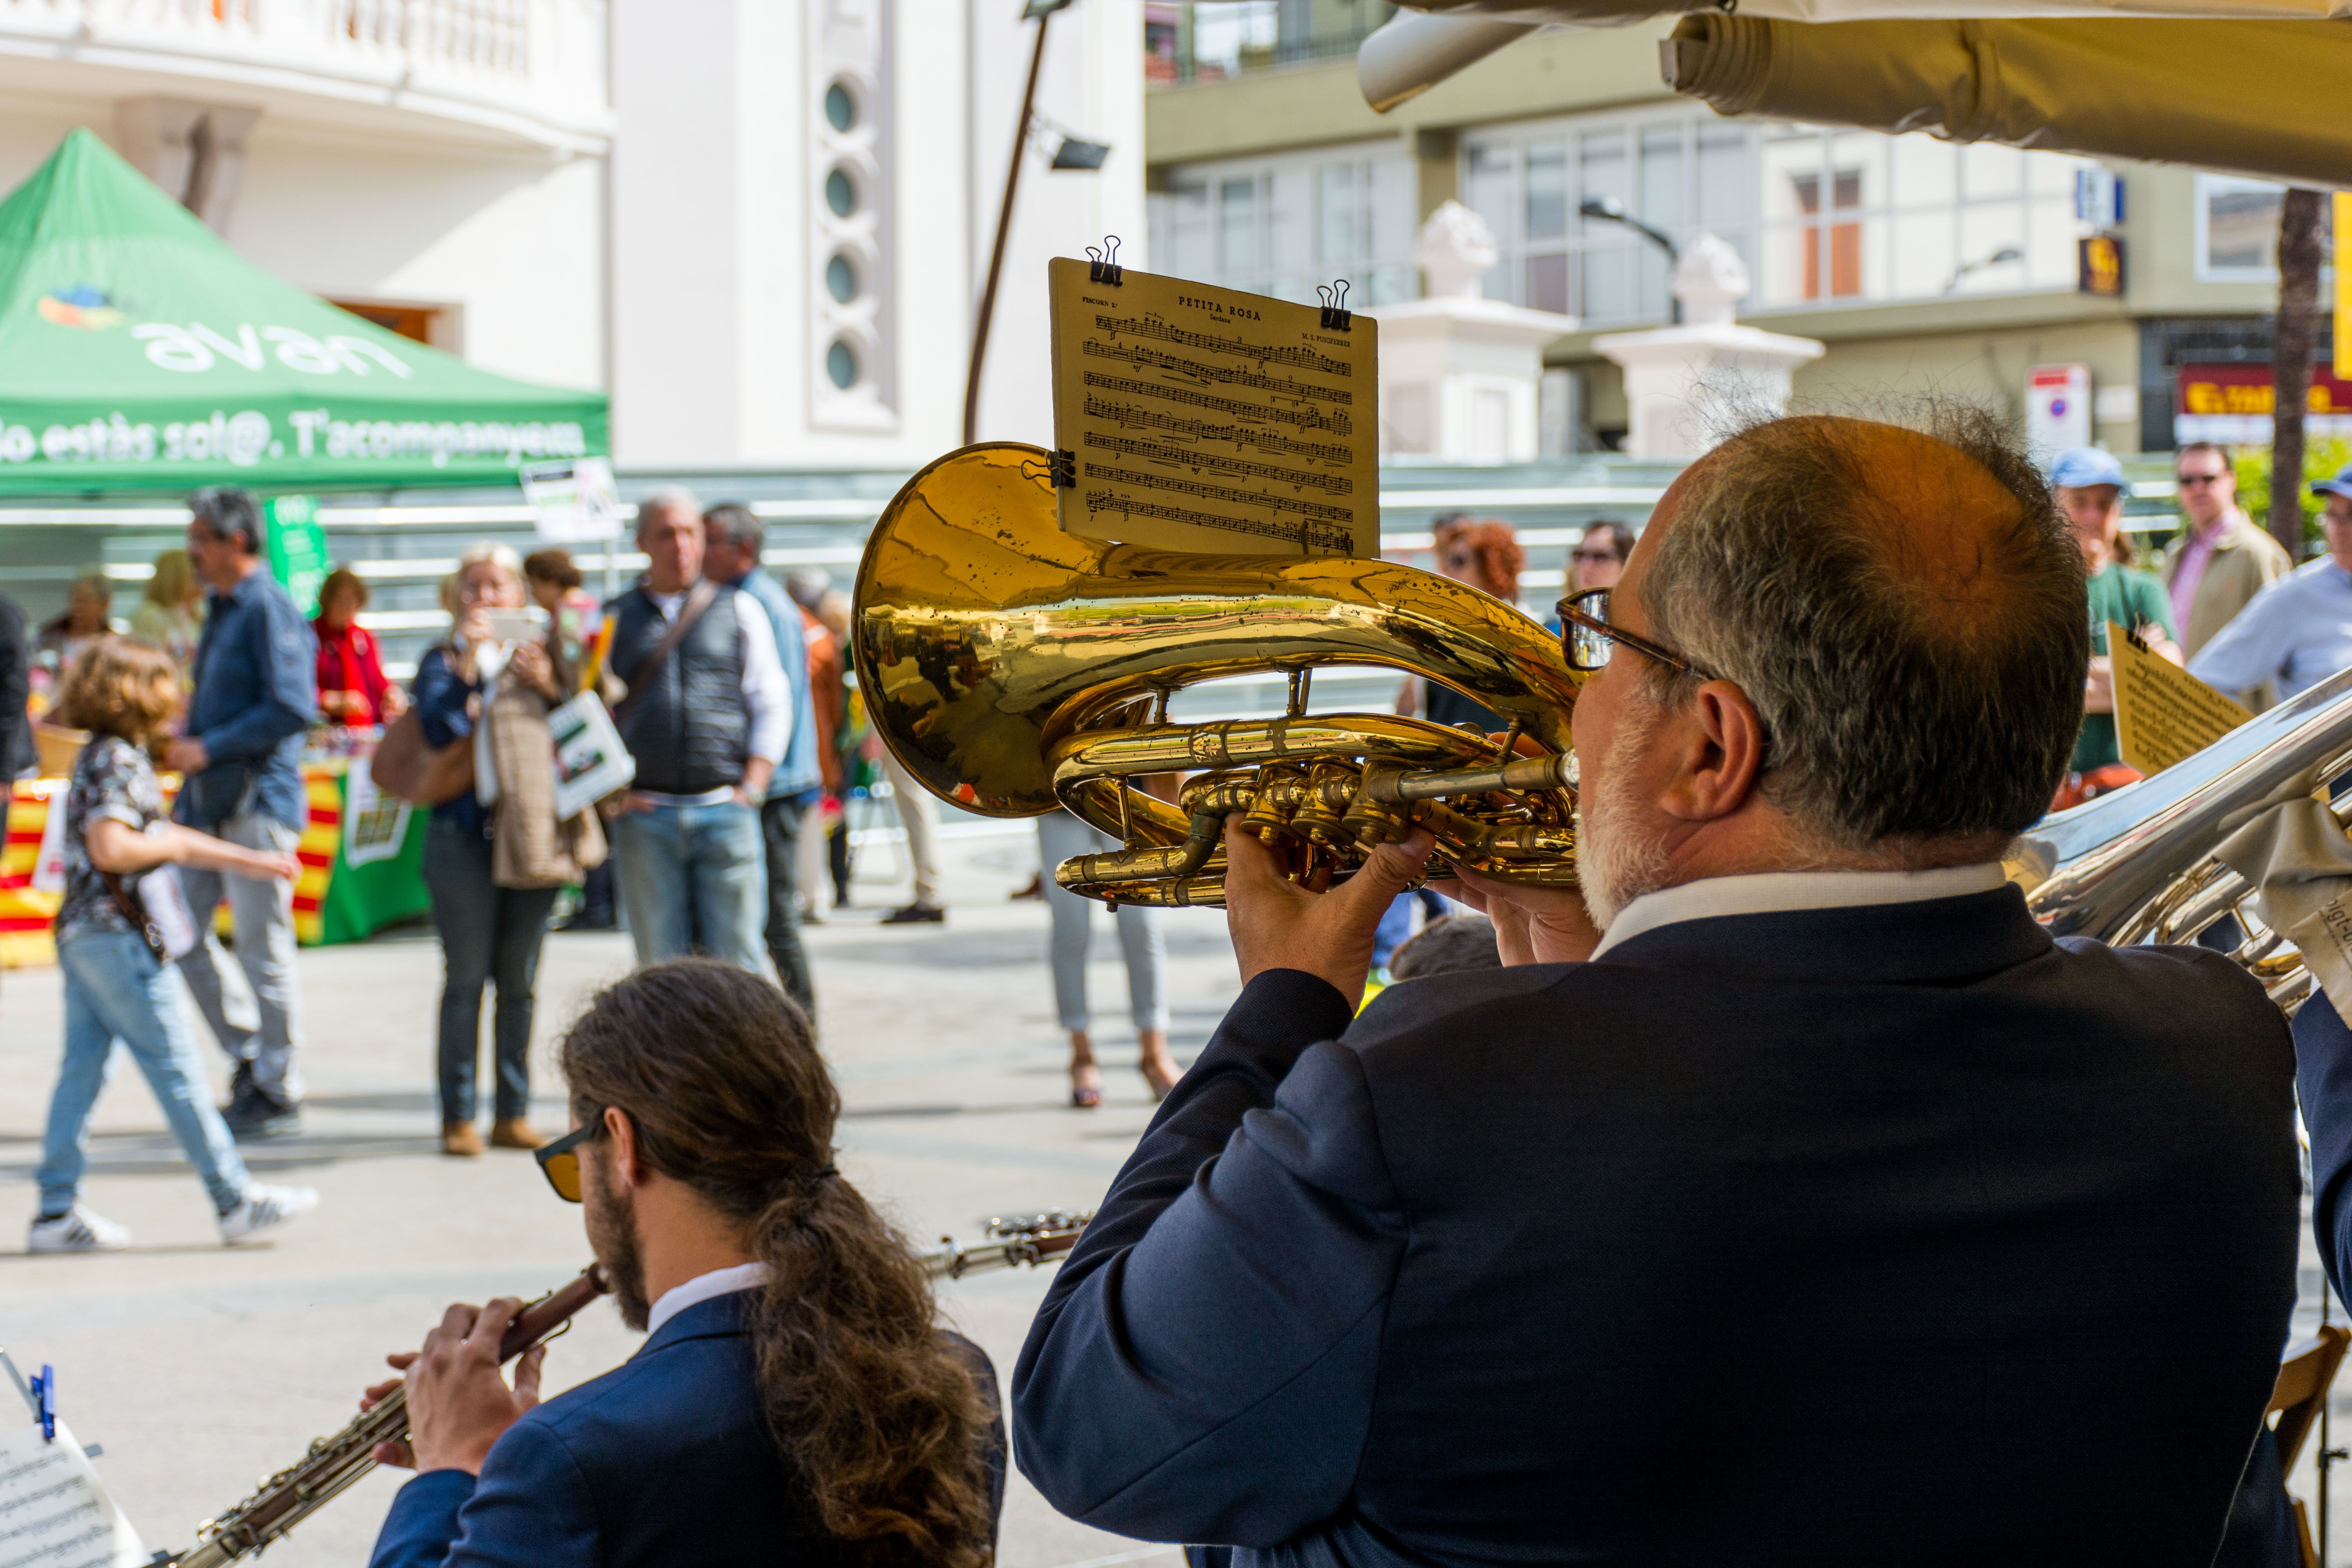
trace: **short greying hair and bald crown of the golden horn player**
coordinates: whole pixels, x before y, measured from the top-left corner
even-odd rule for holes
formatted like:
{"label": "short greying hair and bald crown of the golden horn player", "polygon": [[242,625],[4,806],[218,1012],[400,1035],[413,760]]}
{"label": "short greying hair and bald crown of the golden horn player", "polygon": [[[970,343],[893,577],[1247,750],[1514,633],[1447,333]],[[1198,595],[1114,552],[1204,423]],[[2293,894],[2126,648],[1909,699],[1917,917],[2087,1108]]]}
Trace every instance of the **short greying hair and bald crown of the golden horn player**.
{"label": "short greying hair and bald crown of the golden horn player", "polygon": [[2013,505],[1955,498],[1955,550],[1886,484],[1910,458],[1865,449],[1867,423],[1776,418],[1696,475],[1642,578],[1656,635],[1764,722],[1764,799],[1837,849],[2020,832],[2082,726],[2084,567],[2049,487],[1983,409],[1922,404],[1903,425]]}

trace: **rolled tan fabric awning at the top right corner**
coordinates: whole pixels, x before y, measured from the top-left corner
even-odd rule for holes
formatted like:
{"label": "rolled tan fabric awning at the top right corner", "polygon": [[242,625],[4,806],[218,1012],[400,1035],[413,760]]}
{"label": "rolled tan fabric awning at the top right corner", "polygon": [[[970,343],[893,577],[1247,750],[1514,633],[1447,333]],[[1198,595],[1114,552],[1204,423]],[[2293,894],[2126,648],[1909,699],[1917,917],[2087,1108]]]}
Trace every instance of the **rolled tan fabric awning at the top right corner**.
{"label": "rolled tan fabric awning at the top right corner", "polygon": [[1665,80],[1724,115],[2352,186],[2343,21],[1684,16]]}

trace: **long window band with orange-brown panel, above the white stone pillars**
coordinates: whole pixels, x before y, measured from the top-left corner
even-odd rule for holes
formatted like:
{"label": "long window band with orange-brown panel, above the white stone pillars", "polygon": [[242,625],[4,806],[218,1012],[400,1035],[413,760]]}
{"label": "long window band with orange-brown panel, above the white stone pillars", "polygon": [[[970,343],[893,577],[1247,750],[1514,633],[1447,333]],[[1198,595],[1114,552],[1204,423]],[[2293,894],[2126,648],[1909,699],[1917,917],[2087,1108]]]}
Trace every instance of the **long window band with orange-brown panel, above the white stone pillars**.
{"label": "long window band with orange-brown panel, above the white stone pillars", "polygon": [[1595,327],[1668,315],[1665,254],[1621,202],[1677,242],[1726,240],[1748,261],[1745,310],[2074,287],[2074,176],[2058,153],[1952,146],[1661,110],[1468,136],[1463,200],[1503,266],[1486,294]]}

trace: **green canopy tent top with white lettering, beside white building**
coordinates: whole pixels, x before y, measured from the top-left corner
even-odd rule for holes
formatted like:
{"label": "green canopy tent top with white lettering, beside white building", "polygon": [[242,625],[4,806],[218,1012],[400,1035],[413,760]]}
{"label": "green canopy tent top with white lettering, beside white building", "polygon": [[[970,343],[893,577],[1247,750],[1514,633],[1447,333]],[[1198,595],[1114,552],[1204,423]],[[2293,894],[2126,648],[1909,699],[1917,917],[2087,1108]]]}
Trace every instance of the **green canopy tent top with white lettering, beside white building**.
{"label": "green canopy tent top with white lettering, beside white building", "polygon": [[602,393],[270,277],[87,129],[0,202],[0,496],[489,484],[607,442]]}

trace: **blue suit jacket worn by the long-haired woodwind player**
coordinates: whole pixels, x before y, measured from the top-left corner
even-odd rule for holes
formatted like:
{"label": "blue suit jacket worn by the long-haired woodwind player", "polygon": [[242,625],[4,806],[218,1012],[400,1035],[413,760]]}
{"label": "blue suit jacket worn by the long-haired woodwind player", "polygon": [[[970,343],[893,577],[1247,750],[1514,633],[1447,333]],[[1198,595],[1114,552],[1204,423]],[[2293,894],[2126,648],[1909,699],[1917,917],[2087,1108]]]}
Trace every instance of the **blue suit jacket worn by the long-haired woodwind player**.
{"label": "blue suit jacket worn by the long-haired woodwind player", "polygon": [[[369,1568],[861,1563],[816,1523],[769,1436],[748,1300],[694,1302],[614,1371],[529,1410],[480,1479],[433,1469],[402,1486]],[[950,1338],[995,1406],[988,1354]],[[1002,1432],[988,1474],[995,1519]]]}

